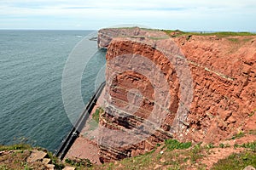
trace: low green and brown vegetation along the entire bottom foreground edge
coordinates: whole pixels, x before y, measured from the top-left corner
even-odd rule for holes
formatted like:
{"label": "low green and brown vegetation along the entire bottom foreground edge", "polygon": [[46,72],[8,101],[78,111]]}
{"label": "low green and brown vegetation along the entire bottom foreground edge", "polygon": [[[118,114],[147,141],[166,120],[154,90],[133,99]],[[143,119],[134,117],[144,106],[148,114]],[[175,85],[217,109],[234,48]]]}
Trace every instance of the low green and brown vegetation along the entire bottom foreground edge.
{"label": "low green and brown vegetation along the entire bottom foreground edge", "polygon": [[[75,167],[76,169],[207,169],[202,160],[214,154],[213,150],[224,148],[241,148],[240,153],[231,154],[223,160],[213,164],[211,169],[243,169],[248,165],[256,167],[256,141],[247,144],[191,144],[180,143],[176,139],[167,139],[164,144],[157,144],[154,150],[141,155],[126,158],[122,161],[94,165],[88,159],[66,159],[60,161],[48,152],[51,163],[55,169],[63,167]],[[0,169],[40,169],[42,165],[38,162],[27,163],[26,158],[30,155],[32,147],[26,144],[15,144],[12,146],[1,146],[1,150],[9,152],[0,156]],[[43,150],[43,149],[38,149]]]}

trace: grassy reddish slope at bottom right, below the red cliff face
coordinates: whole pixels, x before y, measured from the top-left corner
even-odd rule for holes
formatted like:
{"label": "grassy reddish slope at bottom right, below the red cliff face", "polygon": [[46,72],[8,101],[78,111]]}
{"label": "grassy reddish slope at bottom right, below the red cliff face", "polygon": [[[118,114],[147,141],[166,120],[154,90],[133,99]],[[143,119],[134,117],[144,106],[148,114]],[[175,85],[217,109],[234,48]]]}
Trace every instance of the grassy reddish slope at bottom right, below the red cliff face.
{"label": "grassy reddish slope at bottom right, below the red cliff face", "polygon": [[[207,169],[207,165],[201,163],[201,159],[212,153],[212,148],[230,147],[228,144],[201,143],[192,146],[190,142],[180,143],[175,139],[167,139],[165,144],[157,144],[155,149],[145,155],[126,158],[115,163],[106,163],[102,166],[93,166],[92,169]],[[232,154],[224,160],[214,164],[212,169],[243,169],[248,165],[256,167],[256,142],[241,144],[247,150],[240,154]]]}

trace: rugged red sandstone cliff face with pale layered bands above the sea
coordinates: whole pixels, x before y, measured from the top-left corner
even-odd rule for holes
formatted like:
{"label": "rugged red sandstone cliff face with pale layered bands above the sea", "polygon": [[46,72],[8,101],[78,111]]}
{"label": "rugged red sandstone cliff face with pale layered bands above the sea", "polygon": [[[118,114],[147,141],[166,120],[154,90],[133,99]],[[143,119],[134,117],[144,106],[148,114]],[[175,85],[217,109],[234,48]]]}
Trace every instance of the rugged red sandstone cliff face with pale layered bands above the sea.
{"label": "rugged red sandstone cliff face with pale layered bands above the sea", "polygon": [[164,139],[211,143],[255,129],[256,37],[105,29],[98,44],[108,47],[102,161]]}

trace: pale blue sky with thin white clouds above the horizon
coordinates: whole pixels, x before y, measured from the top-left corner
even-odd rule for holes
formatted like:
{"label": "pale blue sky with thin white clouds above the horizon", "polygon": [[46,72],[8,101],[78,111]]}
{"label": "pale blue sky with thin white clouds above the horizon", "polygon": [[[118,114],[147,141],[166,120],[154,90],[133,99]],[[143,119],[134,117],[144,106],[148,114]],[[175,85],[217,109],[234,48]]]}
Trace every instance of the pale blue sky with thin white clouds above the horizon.
{"label": "pale blue sky with thin white clouds above the horizon", "polygon": [[0,0],[0,29],[256,31],[255,0]]}

